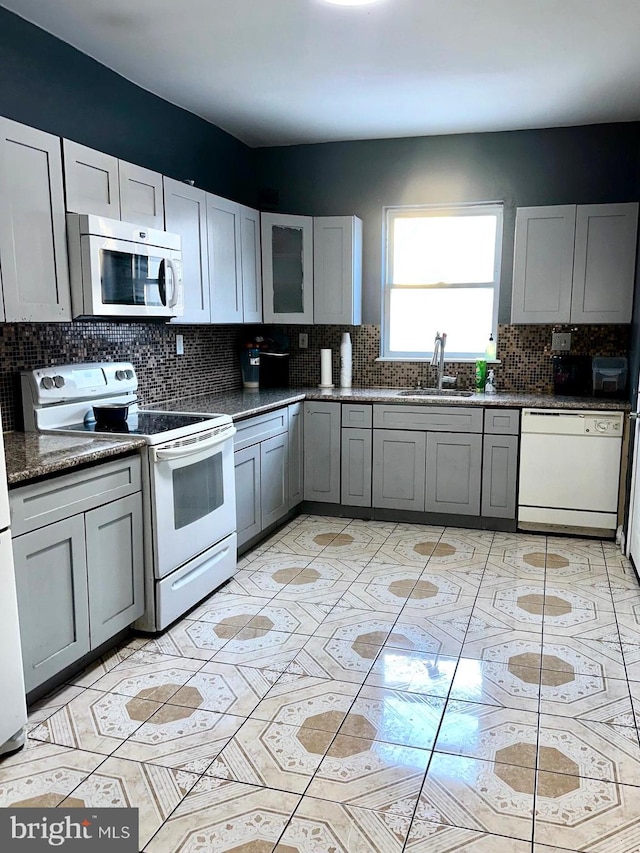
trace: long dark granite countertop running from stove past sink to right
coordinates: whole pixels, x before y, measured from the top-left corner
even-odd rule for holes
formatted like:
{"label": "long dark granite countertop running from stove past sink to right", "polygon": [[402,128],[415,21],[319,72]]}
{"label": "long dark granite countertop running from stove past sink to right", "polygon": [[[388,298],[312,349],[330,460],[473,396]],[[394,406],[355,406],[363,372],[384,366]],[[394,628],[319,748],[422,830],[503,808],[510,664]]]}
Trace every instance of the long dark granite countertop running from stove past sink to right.
{"label": "long dark granite countertop running from stove past sink to right", "polygon": [[401,403],[405,406],[504,406],[528,409],[585,409],[628,411],[623,400],[594,397],[554,397],[551,394],[474,394],[472,397],[399,396],[402,388],[268,388],[258,391],[227,391],[217,394],[174,398],[148,408],[173,412],[202,412],[231,415],[234,420],[259,415],[300,400],[334,400],[342,403]]}

